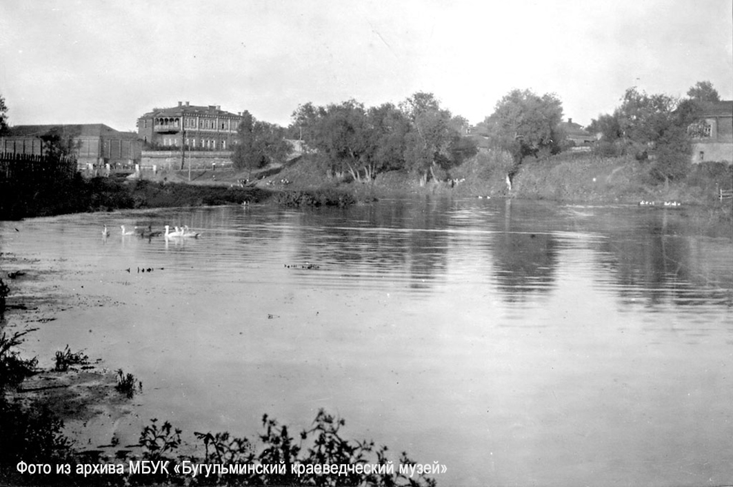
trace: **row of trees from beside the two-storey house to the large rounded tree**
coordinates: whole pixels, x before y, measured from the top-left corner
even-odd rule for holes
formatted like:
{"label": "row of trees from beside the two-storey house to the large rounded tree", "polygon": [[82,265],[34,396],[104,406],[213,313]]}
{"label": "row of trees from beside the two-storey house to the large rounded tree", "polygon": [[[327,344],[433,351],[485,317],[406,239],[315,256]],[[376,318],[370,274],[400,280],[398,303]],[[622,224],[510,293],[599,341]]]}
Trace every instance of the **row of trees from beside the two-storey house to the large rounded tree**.
{"label": "row of trees from beside the two-storey house to the large rounded tree", "polygon": [[[507,150],[515,171],[527,155],[557,153],[562,103],[556,95],[515,89],[497,104],[484,122],[490,143]],[[476,140],[465,137],[468,121],[441,107],[435,95],[417,92],[395,106],[367,108],[356,100],[315,106],[305,103],[292,114],[287,131],[259,122],[246,113],[240,125],[235,164],[240,169],[278,161],[281,139],[301,139],[328,175],[374,180],[380,172],[403,169],[419,178],[445,180],[452,167],[477,152]]]}

